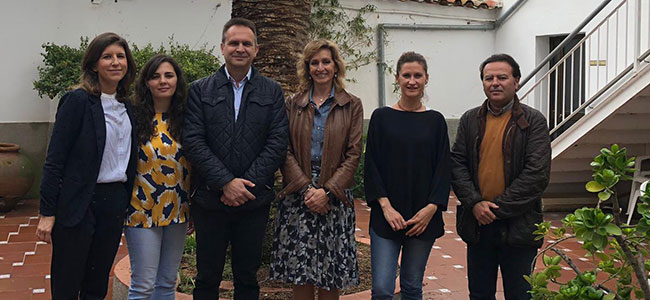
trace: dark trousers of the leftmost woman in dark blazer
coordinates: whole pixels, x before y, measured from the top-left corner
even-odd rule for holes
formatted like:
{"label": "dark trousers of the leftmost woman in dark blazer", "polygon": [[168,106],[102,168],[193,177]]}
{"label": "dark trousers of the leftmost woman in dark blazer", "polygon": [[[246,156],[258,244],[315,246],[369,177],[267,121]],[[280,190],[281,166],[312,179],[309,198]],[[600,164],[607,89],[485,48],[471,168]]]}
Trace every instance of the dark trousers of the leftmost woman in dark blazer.
{"label": "dark trousers of the leftmost woman in dark blazer", "polygon": [[123,183],[97,184],[81,223],[52,230],[52,299],[104,299],[128,203]]}

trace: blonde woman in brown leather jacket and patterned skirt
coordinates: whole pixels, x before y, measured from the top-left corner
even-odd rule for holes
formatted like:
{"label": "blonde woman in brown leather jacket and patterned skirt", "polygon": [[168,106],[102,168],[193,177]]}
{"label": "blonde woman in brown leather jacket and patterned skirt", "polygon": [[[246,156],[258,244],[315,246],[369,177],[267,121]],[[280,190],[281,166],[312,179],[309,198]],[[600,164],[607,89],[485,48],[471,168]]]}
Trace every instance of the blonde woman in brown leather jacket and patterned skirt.
{"label": "blonde woman in brown leather jacket and patterned skirt", "polygon": [[332,41],[305,46],[301,92],[287,100],[289,149],[275,220],[271,278],[294,299],[338,299],[359,283],[350,187],[361,155],[363,108],[344,90],[345,63]]}

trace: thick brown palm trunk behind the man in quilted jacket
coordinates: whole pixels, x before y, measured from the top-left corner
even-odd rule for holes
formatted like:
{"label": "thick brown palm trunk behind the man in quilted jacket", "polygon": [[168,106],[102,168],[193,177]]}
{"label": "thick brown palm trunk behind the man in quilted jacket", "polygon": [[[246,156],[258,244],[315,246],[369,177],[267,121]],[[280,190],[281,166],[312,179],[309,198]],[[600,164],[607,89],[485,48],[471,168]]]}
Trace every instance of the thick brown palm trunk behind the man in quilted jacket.
{"label": "thick brown palm trunk behind the man in quilted jacket", "polygon": [[255,66],[297,92],[296,59],[307,43],[311,0],[233,0],[231,17],[255,22],[260,52]]}

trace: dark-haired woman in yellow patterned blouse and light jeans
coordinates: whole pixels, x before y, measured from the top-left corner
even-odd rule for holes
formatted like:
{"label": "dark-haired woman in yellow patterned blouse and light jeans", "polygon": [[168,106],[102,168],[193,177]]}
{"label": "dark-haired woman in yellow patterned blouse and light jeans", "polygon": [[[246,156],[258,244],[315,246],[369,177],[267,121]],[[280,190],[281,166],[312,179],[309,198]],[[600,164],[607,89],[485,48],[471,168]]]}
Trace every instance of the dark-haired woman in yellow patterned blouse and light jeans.
{"label": "dark-haired woman in yellow patterned blouse and light jeans", "polygon": [[189,163],[181,128],[187,88],[169,55],[152,57],[135,85],[138,168],[124,235],[129,299],[174,299],[189,220]]}

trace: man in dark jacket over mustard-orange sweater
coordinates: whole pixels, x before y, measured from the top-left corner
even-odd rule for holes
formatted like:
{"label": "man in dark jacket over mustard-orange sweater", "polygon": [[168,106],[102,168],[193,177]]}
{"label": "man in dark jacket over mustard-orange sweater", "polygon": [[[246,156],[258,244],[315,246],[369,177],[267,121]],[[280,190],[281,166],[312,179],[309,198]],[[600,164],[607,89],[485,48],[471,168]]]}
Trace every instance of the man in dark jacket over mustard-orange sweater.
{"label": "man in dark jacket over mustard-orange sweater", "polygon": [[495,299],[498,268],[507,300],[530,299],[523,275],[542,245],[533,231],[550,176],[548,126],[519,102],[521,72],[512,57],[493,55],[480,71],[487,100],[463,114],[451,152],[470,299]]}

